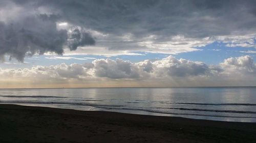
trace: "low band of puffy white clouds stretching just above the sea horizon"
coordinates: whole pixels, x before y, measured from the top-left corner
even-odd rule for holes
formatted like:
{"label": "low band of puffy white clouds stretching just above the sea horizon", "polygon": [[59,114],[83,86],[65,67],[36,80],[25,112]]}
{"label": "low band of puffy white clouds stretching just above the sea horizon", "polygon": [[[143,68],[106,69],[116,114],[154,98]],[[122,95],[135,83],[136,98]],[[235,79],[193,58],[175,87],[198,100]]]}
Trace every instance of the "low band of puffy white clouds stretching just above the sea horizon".
{"label": "low band of puffy white clouds stretching just above the sea horizon", "polygon": [[[26,81],[54,82],[90,82],[90,81],[256,81],[256,65],[249,55],[225,59],[219,65],[211,66],[203,62],[176,59],[174,56],[152,62],[138,63],[121,59],[98,59],[92,63],[64,63],[52,66],[34,66],[31,69],[0,69],[0,75],[6,79]],[[255,85],[255,84],[254,84]]]}

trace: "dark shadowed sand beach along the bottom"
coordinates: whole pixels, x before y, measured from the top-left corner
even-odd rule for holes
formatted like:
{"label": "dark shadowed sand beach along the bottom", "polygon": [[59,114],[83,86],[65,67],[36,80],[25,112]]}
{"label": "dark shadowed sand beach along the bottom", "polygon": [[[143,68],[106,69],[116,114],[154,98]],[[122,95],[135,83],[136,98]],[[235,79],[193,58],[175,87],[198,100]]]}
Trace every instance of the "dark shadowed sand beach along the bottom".
{"label": "dark shadowed sand beach along the bottom", "polygon": [[1,104],[0,142],[256,142],[256,123]]}

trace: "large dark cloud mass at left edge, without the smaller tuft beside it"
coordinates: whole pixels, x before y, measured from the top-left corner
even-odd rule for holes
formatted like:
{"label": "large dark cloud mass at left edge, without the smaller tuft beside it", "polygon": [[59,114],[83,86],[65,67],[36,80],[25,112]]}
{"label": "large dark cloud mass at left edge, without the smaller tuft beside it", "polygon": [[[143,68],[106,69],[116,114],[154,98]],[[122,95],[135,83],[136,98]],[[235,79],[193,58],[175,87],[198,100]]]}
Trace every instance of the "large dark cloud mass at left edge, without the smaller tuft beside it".
{"label": "large dark cloud mass at left edge, without the smaller tuft beside it", "polygon": [[56,24],[50,20],[26,17],[15,23],[0,25],[0,56],[9,54],[10,58],[23,61],[26,54],[53,51],[63,53],[63,44],[68,36],[65,30],[56,30]]}

